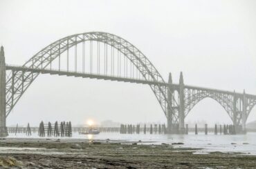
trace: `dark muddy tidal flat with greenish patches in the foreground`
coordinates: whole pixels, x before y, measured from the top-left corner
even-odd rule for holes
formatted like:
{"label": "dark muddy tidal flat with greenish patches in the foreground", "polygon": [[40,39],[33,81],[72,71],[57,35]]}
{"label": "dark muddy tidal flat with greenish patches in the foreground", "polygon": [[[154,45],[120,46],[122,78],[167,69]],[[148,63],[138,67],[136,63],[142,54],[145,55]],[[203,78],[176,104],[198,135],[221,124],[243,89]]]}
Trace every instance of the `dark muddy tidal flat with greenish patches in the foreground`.
{"label": "dark muddy tidal flat with greenish patches in the foreground", "polygon": [[256,156],[179,145],[84,139],[3,139],[0,166],[14,168],[256,168]]}

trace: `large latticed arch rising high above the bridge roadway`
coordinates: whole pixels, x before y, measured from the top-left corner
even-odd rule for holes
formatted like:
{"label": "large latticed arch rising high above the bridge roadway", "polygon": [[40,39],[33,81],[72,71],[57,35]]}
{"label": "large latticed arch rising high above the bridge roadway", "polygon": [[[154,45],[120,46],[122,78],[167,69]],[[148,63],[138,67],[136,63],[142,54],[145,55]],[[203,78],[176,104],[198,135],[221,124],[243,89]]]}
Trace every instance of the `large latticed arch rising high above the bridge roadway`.
{"label": "large latticed arch rising high above the bridge roadway", "polygon": [[[59,39],[50,45],[43,48],[37,54],[35,54],[32,58],[30,58],[25,64],[24,68],[26,69],[40,69],[46,70],[50,67],[52,68],[52,63],[55,60],[59,61],[59,70],[60,70],[60,57],[64,52],[68,53],[72,47],[75,47],[75,66],[76,66],[76,50],[77,44],[82,43],[83,52],[84,52],[84,43],[86,41],[97,41],[100,43],[104,43],[104,45],[111,46],[111,54],[112,48],[115,48],[125,56],[126,59],[130,61],[130,63],[138,70],[138,72],[142,75],[145,81],[155,81],[160,83],[165,83],[161,74],[159,74],[158,70],[153,66],[153,64],[145,57],[145,54],[140,52],[138,48],[134,45],[118,37],[114,34],[109,34],[106,32],[86,32],[82,34],[73,34],[68,37],[64,37]],[[104,46],[105,47],[105,46]],[[99,51],[99,47],[98,47]],[[104,52],[106,52],[106,48],[104,48]],[[91,52],[90,52],[91,54]],[[92,55],[90,55],[91,57]],[[104,56],[105,57],[105,56]],[[58,59],[57,59],[58,58]],[[111,56],[112,58],[112,56]],[[112,62],[112,61],[111,61]],[[107,64],[109,62],[107,61]],[[84,63],[83,63],[84,64]],[[124,63],[125,64],[125,63]],[[127,64],[127,62],[126,62]],[[83,65],[84,68],[84,65]],[[76,69],[76,67],[75,67]],[[105,68],[104,68],[105,69]],[[68,61],[67,61],[67,72],[68,70]],[[76,70],[75,70],[76,71]],[[28,89],[31,83],[38,77],[39,72],[31,72],[31,71],[12,71],[8,75],[6,79],[6,116],[8,116],[14,108],[15,104],[24,92]],[[158,83],[149,84],[150,88],[154,92],[156,99],[161,105],[163,112],[167,115],[167,106],[170,104],[167,100],[167,86],[161,86]],[[171,106],[169,106],[171,107]]]}

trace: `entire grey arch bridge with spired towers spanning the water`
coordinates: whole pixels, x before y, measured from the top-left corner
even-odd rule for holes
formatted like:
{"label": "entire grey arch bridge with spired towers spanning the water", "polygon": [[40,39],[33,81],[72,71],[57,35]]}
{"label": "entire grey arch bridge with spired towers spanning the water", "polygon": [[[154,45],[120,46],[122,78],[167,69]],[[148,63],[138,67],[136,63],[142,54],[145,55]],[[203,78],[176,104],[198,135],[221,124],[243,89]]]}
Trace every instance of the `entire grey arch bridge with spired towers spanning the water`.
{"label": "entire grey arch bridge with spired towers spanning the water", "polygon": [[245,92],[186,86],[182,73],[179,84],[172,83],[171,74],[165,82],[143,52],[129,41],[107,32],[86,32],[59,39],[37,52],[23,66],[6,64],[2,47],[0,72],[1,81],[5,82],[0,86],[0,133],[6,128],[6,117],[39,74],[147,84],[167,117],[170,133],[175,132],[176,127],[183,133],[185,117],[206,97],[221,104],[233,123],[244,129],[256,104],[256,96]]}

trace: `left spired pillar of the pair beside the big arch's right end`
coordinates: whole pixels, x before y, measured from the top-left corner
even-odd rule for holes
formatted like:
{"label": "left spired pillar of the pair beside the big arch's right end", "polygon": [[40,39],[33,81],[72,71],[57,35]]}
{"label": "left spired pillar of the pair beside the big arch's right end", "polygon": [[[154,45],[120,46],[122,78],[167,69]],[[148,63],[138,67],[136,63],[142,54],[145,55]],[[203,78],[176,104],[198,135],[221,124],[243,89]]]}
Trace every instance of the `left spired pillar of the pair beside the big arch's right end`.
{"label": "left spired pillar of the pair beside the big arch's right end", "polygon": [[169,73],[168,83],[170,84],[170,86],[168,86],[167,99],[170,103],[170,106],[167,105],[167,134],[172,134],[172,110],[171,110],[171,106],[172,106],[172,88],[171,88],[172,74],[171,73]]}

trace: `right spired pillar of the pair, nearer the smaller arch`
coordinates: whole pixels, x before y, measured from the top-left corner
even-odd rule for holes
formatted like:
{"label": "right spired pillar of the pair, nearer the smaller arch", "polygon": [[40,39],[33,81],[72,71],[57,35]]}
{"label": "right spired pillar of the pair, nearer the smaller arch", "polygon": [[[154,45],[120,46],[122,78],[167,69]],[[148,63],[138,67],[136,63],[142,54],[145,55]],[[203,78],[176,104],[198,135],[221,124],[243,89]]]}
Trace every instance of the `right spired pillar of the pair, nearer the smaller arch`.
{"label": "right spired pillar of the pair, nearer the smaller arch", "polygon": [[185,93],[182,72],[180,74],[179,86],[179,134],[185,134]]}

